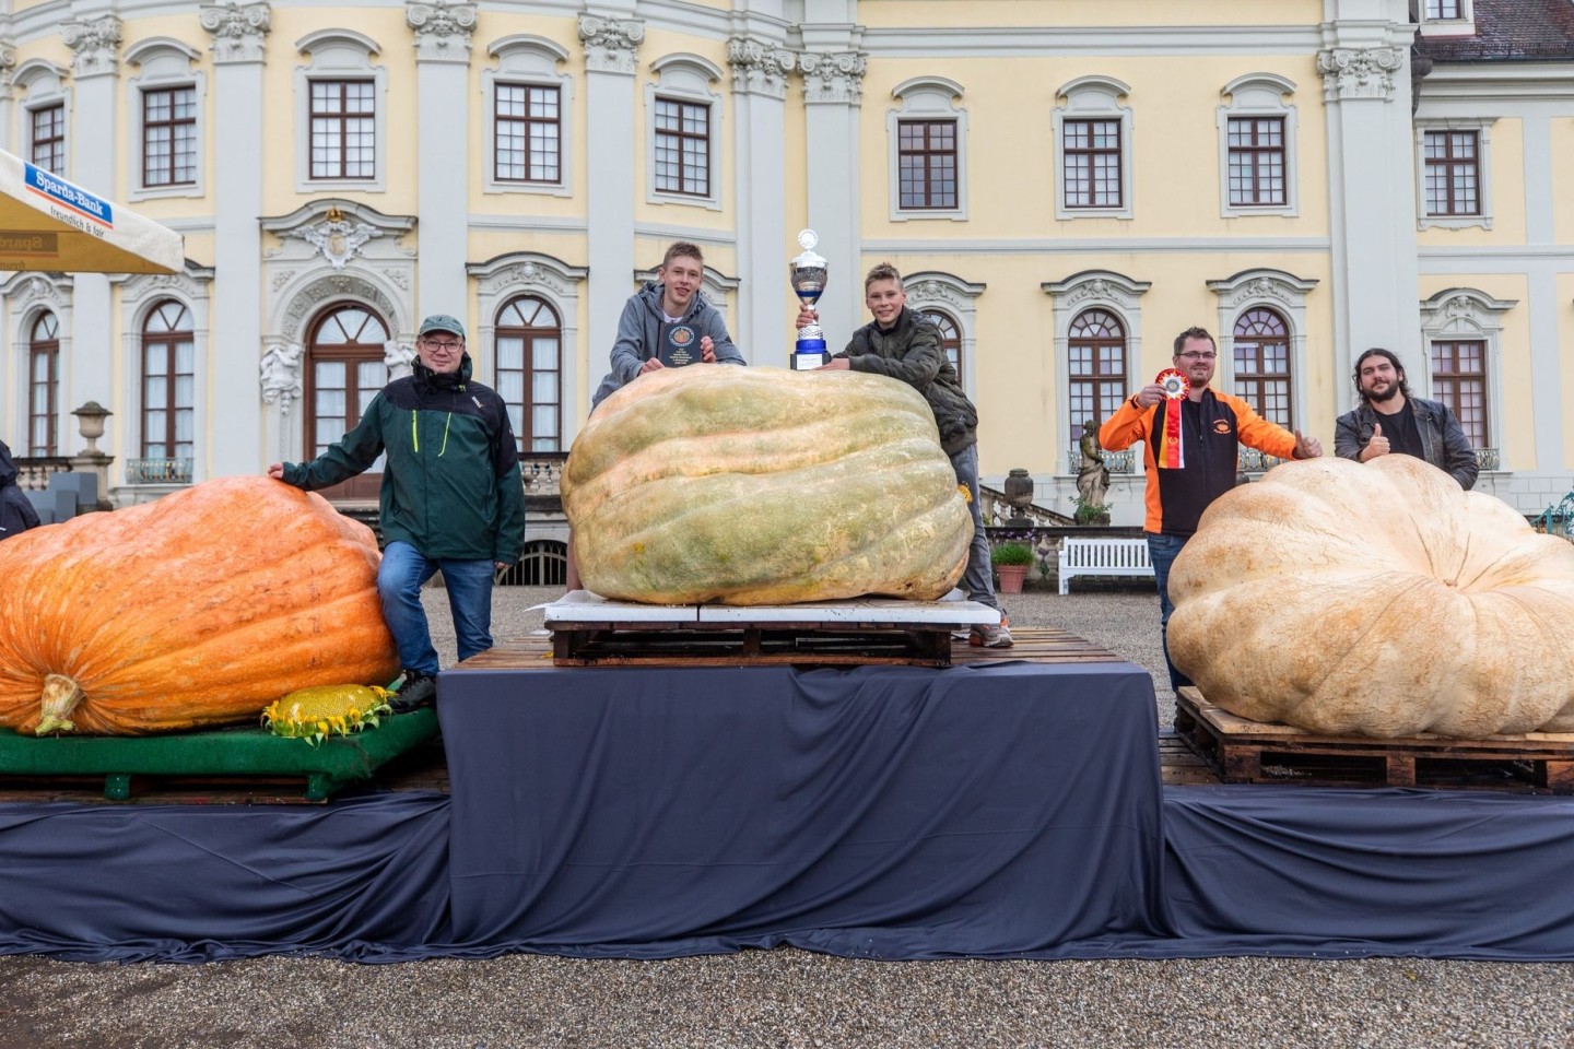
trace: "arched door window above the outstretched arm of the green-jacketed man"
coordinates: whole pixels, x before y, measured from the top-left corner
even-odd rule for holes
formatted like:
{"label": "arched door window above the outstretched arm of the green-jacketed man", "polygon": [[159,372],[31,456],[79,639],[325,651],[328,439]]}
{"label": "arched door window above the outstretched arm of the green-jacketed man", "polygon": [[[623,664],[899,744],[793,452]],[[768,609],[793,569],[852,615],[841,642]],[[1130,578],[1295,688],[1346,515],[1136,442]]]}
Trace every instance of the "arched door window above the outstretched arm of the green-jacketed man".
{"label": "arched door window above the outstretched arm of the green-jacketed man", "polygon": [[[329,307],[312,327],[305,399],[312,406],[305,420],[307,458],[313,459],[349,432],[387,385],[384,343],[389,341],[382,318],[359,304]],[[327,499],[371,499],[382,483],[381,459],[360,477],[324,489]]]}

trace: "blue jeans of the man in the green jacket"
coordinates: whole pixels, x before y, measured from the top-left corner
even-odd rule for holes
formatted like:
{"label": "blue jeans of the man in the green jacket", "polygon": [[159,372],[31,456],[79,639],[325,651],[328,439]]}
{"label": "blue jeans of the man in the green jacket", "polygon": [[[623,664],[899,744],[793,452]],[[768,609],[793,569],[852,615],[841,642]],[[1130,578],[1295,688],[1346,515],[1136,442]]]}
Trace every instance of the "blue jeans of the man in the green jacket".
{"label": "blue jeans of the man in the green jacket", "polygon": [[491,648],[493,563],[431,558],[409,543],[389,543],[378,568],[378,596],[382,599],[382,618],[398,646],[400,664],[406,670],[438,673],[438,650],[431,646],[420,585],[439,571],[449,588],[460,659]]}

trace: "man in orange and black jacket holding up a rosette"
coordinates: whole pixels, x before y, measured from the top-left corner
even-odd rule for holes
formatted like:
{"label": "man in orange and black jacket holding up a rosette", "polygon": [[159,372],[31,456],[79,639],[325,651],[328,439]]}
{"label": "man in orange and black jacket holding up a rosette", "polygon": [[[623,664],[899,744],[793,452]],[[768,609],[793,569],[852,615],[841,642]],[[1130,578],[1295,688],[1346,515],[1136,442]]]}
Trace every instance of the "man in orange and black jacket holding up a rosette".
{"label": "man in orange and black jacket holding up a rosette", "polygon": [[1192,684],[1169,662],[1168,626],[1169,566],[1185,541],[1196,532],[1198,517],[1209,503],[1236,486],[1240,445],[1265,451],[1281,459],[1314,459],[1322,455],[1316,437],[1303,437],[1270,423],[1239,396],[1209,388],[1218,349],[1204,329],[1188,327],[1176,337],[1174,368],[1185,376],[1185,398],[1180,399],[1179,432],[1165,426],[1165,410],[1157,410],[1168,396],[1152,382],[1136,392],[1103,420],[1099,442],[1111,451],[1143,442],[1143,466],[1147,472],[1147,555],[1158,580],[1158,624],[1165,639],[1165,665],[1169,687]]}

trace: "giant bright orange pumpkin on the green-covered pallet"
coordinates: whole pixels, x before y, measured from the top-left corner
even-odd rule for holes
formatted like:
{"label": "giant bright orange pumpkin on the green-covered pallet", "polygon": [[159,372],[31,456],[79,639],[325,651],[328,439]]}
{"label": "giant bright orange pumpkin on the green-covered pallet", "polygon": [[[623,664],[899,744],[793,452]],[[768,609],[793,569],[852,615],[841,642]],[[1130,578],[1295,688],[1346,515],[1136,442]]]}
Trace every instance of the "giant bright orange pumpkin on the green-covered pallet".
{"label": "giant bright orange pumpkin on the green-covered pallet", "polygon": [[142,734],[389,681],[371,530],[261,477],[0,543],[0,725]]}

